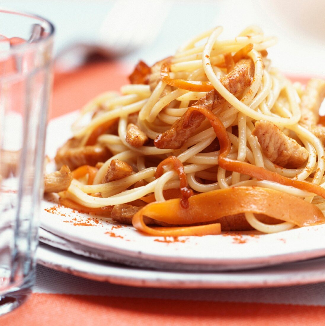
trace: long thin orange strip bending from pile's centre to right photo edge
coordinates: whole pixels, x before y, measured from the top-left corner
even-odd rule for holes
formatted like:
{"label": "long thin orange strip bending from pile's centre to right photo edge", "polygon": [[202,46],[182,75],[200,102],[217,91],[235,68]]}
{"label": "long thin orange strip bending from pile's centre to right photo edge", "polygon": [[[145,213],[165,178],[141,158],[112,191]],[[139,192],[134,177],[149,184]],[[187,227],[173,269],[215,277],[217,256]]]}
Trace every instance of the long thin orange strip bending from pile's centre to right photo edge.
{"label": "long thin orange strip bending from pile's centre to right photo edge", "polygon": [[[200,113],[202,113],[210,121],[210,124],[212,125],[214,132],[217,135],[217,138],[220,143],[219,166],[221,168],[228,171],[247,174],[258,180],[268,180],[277,182],[281,185],[292,186],[325,198],[325,189],[319,185],[315,185],[306,181],[293,180],[284,177],[276,172],[265,170],[262,167],[255,166],[247,162],[241,162],[227,158],[227,155],[230,152],[231,142],[225,126],[213,112],[203,106],[190,107],[185,114],[190,115],[193,111],[199,111]],[[184,120],[186,121],[187,119]]]}

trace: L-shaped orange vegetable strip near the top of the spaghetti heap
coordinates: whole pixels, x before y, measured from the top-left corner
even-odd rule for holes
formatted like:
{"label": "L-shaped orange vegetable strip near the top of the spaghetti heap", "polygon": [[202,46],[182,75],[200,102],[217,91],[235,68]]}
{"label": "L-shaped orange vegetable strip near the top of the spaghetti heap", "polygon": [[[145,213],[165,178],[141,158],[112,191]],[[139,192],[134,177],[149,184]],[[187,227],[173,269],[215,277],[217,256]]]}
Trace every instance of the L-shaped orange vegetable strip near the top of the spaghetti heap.
{"label": "L-shaped orange vegetable strip near the top of the spaghetti heap", "polygon": [[161,66],[161,79],[168,85],[186,89],[193,92],[209,92],[214,89],[211,82],[187,81],[185,79],[170,78],[170,59],[167,59]]}

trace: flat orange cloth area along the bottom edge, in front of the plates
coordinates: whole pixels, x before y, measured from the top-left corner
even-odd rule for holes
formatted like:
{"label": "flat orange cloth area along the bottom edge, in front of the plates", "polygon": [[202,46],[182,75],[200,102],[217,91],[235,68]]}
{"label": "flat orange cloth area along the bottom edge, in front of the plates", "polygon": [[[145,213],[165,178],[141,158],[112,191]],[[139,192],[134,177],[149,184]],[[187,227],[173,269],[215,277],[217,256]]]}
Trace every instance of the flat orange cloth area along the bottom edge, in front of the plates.
{"label": "flat orange cloth area along the bottom edge, in front of the plates", "polygon": [[34,293],[2,325],[324,325],[325,307]]}

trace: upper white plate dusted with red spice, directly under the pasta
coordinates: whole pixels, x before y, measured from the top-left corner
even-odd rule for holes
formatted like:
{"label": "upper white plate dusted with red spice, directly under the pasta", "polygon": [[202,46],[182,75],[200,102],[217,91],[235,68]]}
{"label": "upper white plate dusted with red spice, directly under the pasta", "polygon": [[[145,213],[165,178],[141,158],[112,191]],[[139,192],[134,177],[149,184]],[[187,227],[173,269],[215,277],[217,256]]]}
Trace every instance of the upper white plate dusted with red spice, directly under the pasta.
{"label": "upper white plate dusted with red spice, directly under the pasta", "polygon": [[[51,156],[70,136],[69,126],[75,116],[73,113],[51,121],[47,144]],[[96,223],[93,219],[91,226],[81,226],[89,215],[73,213],[65,207],[51,210],[54,206],[52,202],[42,202],[42,228],[75,243],[127,257],[126,264],[159,269],[229,270],[325,256],[325,225],[263,235],[180,237],[178,242],[166,243],[163,238],[142,235],[130,226],[115,228],[109,220],[98,219]]]}

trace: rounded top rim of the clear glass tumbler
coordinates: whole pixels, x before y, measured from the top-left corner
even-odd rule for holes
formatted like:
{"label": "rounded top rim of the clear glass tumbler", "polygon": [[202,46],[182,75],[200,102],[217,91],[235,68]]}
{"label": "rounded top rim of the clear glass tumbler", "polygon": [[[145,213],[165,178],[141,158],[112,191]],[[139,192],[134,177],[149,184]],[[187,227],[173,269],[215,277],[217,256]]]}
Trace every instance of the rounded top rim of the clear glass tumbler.
{"label": "rounded top rim of the clear glass tumbler", "polygon": [[4,7],[0,7],[0,13],[7,13],[7,14],[14,14],[14,15],[19,15],[19,16],[25,16],[25,17],[29,17],[29,18],[34,18],[34,19],[38,19],[42,22],[45,22],[48,27],[49,27],[49,34],[44,37],[44,38],[38,38],[35,41],[33,41],[33,43],[23,43],[15,48],[10,48],[8,50],[2,50],[0,51],[0,53],[7,53],[7,54],[14,54],[17,52],[24,52],[25,50],[29,50],[29,49],[33,49],[34,47],[39,46],[40,44],[46,43],[49,40],[52,39],[54,33],[55,33],[55,27],[52,24],[52,22],[50,22],[49,20],[47,20],[46,18],[42,17],[42,16],[38,16],[36,14],[32,14],[29,12],[24,12],[24,11],[19,11],[19,10],[14,10],[11,8],[4,8]]}

